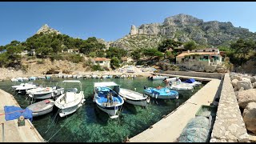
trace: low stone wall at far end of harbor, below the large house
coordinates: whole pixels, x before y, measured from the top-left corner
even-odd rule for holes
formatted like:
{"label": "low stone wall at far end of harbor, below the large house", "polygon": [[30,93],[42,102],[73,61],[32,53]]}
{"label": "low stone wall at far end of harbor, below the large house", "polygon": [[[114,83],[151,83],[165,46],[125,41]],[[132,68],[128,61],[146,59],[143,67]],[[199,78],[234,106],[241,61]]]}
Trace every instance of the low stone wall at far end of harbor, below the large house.
{"label": "low stone wall at far end of harbor, below the large house", "polygon": [[201,78],[218,78],[222,79],[224,74],[220,73],[204,73],[204,72],[194,72],[194,71],[165,71],[165,74],[174,74],[174,75],[186,75],[190,77],[201,77]]}

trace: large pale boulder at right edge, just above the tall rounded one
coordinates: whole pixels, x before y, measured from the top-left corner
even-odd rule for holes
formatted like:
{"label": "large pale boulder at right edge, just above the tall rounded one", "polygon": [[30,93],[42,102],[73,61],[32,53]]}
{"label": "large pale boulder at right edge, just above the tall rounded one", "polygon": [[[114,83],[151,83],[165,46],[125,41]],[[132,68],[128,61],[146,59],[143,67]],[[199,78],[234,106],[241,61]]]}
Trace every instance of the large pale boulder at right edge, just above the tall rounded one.
{"label": "large pale boulder at right edge, just above the tall rounded one", "polygon": [[238,91],[238,105],[245,108],[248,103],[256,102],[256,89]]}

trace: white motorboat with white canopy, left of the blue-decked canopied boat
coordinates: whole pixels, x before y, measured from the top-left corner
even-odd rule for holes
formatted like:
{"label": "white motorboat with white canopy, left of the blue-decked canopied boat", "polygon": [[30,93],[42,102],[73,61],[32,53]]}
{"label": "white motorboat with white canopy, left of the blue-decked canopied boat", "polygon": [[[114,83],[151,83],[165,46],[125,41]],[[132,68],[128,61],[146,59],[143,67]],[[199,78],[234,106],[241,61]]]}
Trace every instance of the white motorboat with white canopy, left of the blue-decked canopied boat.
{"label": "white motorboat with white canopy, left of the blue-decked canopied boat", "polygon": [[56,99],[54,105],[58,107],[58,114],[60,117],[74,113],[82,106],[82,103],[86,101],[82,90],[82,83],[80,81],[66,80],[62,83],[78,83],[80,85],[80,91],[78,92],[77,88],[71,88]]}

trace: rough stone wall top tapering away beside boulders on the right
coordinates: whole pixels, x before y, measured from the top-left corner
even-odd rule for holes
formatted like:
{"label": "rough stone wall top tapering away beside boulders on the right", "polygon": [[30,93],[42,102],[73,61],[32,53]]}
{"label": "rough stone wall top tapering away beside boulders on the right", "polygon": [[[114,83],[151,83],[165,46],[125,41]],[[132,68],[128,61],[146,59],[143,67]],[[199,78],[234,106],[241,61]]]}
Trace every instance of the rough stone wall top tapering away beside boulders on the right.
{"label": "rough stone wall top tapering away beside boulders on the right", "polygon": [[230,74],[225,74],[210,142],[249,142]]}

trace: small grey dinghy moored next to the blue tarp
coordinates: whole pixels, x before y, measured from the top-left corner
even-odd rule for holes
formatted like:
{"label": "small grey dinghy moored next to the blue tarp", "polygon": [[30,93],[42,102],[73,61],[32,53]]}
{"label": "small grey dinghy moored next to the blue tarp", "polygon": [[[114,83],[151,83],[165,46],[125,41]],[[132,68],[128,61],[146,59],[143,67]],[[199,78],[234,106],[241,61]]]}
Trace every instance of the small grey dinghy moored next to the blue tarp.
{"label": "small grey dinghy moored next to the blue tarp", "polygon": [[53,111],[54,100],[46,99],[40,102],[36,102],[27,106],[30,110],[32,110],[33,117],[38,117],[43,114],[48,114]]}

